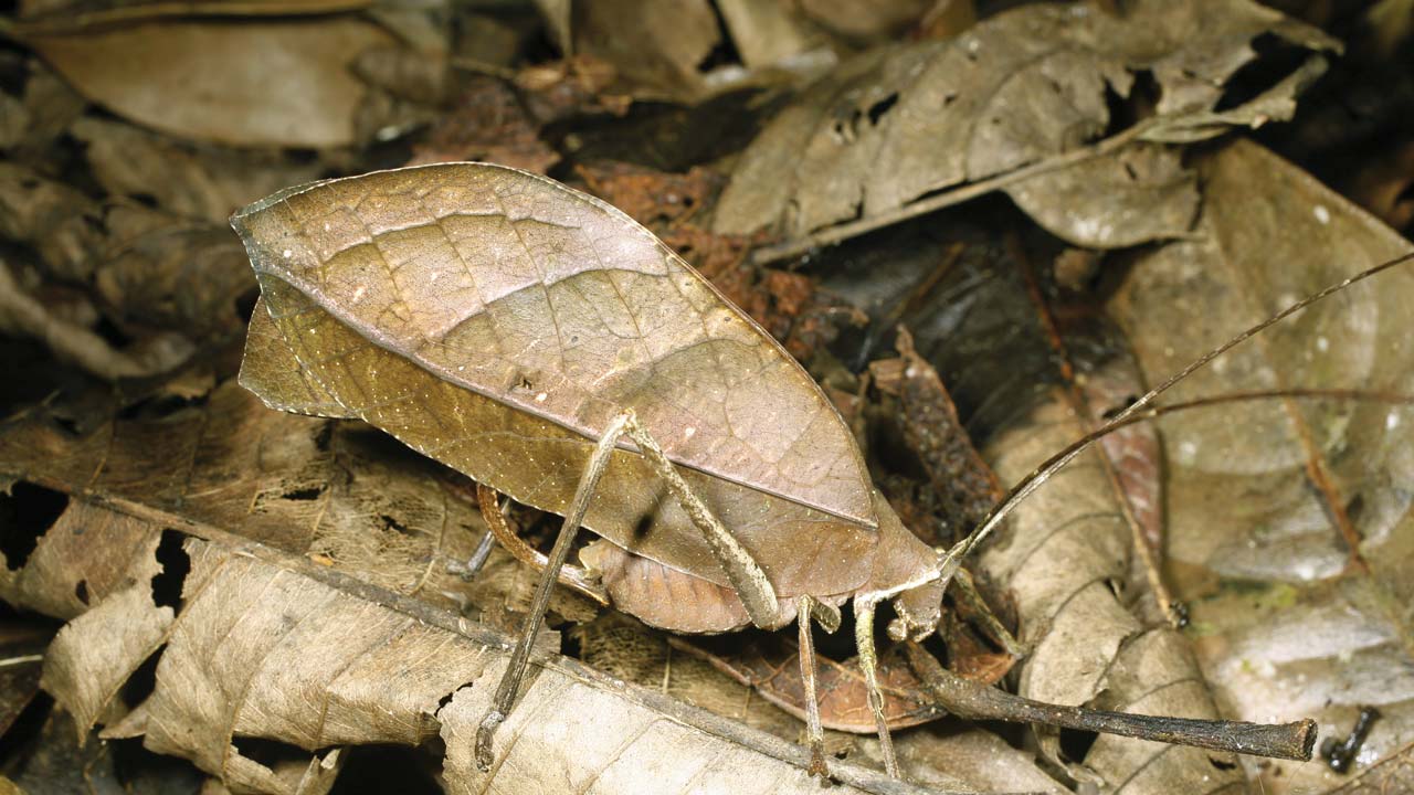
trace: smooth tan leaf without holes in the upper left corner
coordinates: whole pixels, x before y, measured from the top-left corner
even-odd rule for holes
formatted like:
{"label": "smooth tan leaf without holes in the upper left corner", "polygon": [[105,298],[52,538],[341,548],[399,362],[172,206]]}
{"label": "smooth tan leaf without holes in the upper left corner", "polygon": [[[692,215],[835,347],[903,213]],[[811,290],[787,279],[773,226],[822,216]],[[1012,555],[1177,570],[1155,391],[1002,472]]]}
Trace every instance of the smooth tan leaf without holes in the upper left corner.
{"label": "smooth tan leaf without holes in the upper left corner", "polygon": [[185,139],[236,146],[355,143],[366,88],[349,71],[396,40],[356,17],[146,21],[34,34],[33,47],[85,98]]}

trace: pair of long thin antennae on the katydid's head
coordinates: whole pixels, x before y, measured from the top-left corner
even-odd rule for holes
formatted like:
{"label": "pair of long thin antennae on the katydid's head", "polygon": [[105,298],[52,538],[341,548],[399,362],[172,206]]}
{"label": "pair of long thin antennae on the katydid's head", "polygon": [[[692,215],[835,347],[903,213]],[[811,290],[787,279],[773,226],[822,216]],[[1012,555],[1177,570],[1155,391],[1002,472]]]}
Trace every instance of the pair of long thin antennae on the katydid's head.
{"label": "pair of long thin antennae on the katydid's head", "polygon": [[1062,467],[1065,467],[1066,464],[1069,464],[1070,460],[1073,460],[1076,455],[1079,455],[1080,453],[1086,451],[1092,444],[1094,444],[1100,439],[1103,439],[1103,437],[1109,436],[1110,433],[1114,433],[1116,430],[1120,430],[1123,427],[1128,427],[1128,426],[1140,423],[1140,422],[1147,422],[1147,420],[1151,420],[1151,419],[1162,416],[1162,414],[1169,414],[1169,413],[1175,413],[1175,412],[1184,412],[1184,410],[1189,410],[1189,409],[1199,409],[1199,407],[1206,407],[1206,406],[1216,406],[1216,405],[1222,405],[1222,403],[1236,403],[1236,402],[1243,402],[1243,400],[1266,400],[1266,399],[1274,399],[1274,398],[1336,399],[1336,400],[1374,400],[1374,402],[1386,402],[1386,403],[1414,403],[1414,395],[1398,395],[1398,393],[1389,393],[1389,392],[1372,392],[1372,390],[1362,390],[1362,389],[1270,389],[1270,390],[1256,390],[1256,392],[1233,392],[1233,393],[1227,393],[1227,395],[1216,395],[1216,396],[1210,396],[1210,398],[1199,398],[1196,400],[1188,400],[1188,402],[1184,402],[1184,403],[1171,403],[1171,405],[1167,405],[1167,406],[1152,406],[1151,405],[1155,398],[1158,398],[1159,395],[1162,395],[1164,392],[1167,392],[1169,388],[1172,388],[1178,382],[1184,381],[1185,378],[1188,378],[1189,375],[1192,375],[1198,369],[1203,368],[1205,365],[1208,365],[1209,362],[1212,362],[1217,356],[1226,354],[1227,351],[1230,351],[1236,345],[1240,345],[1241,342],[1244,342],[1244,341],[1250,340],[1251,337],[1260,334],[1266,328],[1268,328],[1268,327],[1271,327],[1271,325],[1274,325],[1274,324],[1285,320],[1287,317],[1291,317],[1292,314],[1295,314],[1295,313],[1298,313],[1298,311],[1309,307],[1311,304],[1314,304],[1316,301],[1321,301],[1322,298],[1326,298],[1329,296],[1333,296],[1335,293],[1339,293],[1339,291],[1345,290],[1350,284],[1355,284],[1357,282],[1363,282],[1363,280],[1366,280],[1366,279],[1369,279],[1369,277],[1372,277],[1372,276],[1374,276],[1377,273],[1383,273],[1383,272],[1386,272],[1386,270],[1389,270],[1391,267],[1396,267],[1398,265],[1404,265],[1404,263],[1407,263],[1410,260],[1414,260],[1414,252],[1410,252],[1410,253],[1397,256],[1394,259],[1381,262],[1381,263],[1379,263],[1376,266],[1372,266],[1372,267],[1369,267],[1366,270],[1362,270],[1360,273],[1356,273],[1355,276],[1350,276],[1350,277],[1343,279],[1343,280],[1340,280],[1340,282],[1338,282],[1335,284],[1331,284],[1331,286],[1322,289],[1318,293],[1312,293],[1311,296],[1307,296],[1305,298],[1302,298],[1302,300],[1291,304],[1290,307],[1281,310],[1280,313],[1268,317],[1267,320],[1264,320],[1264,321],[1253,325],[1251,328],[1249,328],[1249,330],[1237,334],[1236,337],[1227,340],[1222,345],[1219,345],[1219,347],[1213,348],[1212,351],[1203,354],[1202,356],[1199,356],[1198,359],[1195,359],[1192,364],[1189,364],[1188,366],[1185,366],[1184,369],[1181,369],[1175,375],[1169,376],[1168,381],[1165,381],[1164,383],[1161,383],[1161,385],[1155,386],[1154,389],[1150,389],[1148,392],[1145,392],[1140,399],[1137,399],[1134,403],[1131,403],[1128,407],[1126,407],[1123,412],[1120,412],[1113,420],[1110,420],[1109,423],[1106,423],[1100,429],[1097,429],[1097,430],[1094,430],[1092,433],[1087,433],[1087,434],[1082,436],[1080,439],[1077,439],[1076,441],[1070,443],[1063,450],[1060,450],[1059,453],[1056,453],[1055,455],[1052,455],[1051,458],[1048,458],[1044,464],[1041,464],[1039,467],[1036,467],[1035,470],[1032,470],[1031,474],[1028,474],[1027,477],[1021,478],[1021,481],[1017,482],[1017,485],[1014,485],[1011,488],[1011,491],[1007,492],[1007,495],[1001,499],[1001,502],[998,502],[981,519],[981,522],[978,522],[977,526],[973,528],[973,530],[970,533],[967,533],[967,536],[964,539],[962,539],[960,542],[957,542],[956,545],[953,545],[952,549],[947,550],[947,553],[943,556],[942,566],[939,567],[939,579],[946,586],[952,580],[952,577],[957,573],[957,569],[962,566],[962,562],[967,556],[967,553],[970,553],[994,529],[997,529],[997,526],[1003,522],[1003,519],[1005,519],[1007,515],[1011,513],[1017,508],[1017,505],[1021,504],[1022,499],[1025,499],[1027,497],[1029,497],[1031,492],[1034,492],[1035,489],[1041,488],[1041,485],[1044,482],[1046,482],[1048,480],[1051,480],[1051,475],[1053,475]]}

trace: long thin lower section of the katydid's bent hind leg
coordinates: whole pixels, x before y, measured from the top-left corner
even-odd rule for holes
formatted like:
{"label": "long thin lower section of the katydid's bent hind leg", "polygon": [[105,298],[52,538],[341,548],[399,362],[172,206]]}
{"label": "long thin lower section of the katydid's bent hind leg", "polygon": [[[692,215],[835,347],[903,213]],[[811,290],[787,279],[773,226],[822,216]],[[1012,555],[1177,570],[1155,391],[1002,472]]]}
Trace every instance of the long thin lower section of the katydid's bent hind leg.
{"label": "long thin lower section of the katydid's bent hind leg", "polygon": [[496,695],[491,702],[491,709],[486,710],[486,716],[481,719],[481,726],[477,727],[477,767],[482,771],[491,770],[491,762],[493,761],[491,751],[492,736],[496,727],[506,719],[506,714],[510,713],[510,704],[516,700],[516,693],[520,690],[520,679],[525,678],[526,663],[530,659],[530,646],[534,644],[534,637],[540,632],[540,625],[544,622],[544,608],[550,603],[550,588],[554,586],[556,579],[559,579],[564,560],[570,556],[574,533],[580,529],[580,522],[584,521],[584,512],[590,506],[590,497],[594,494],[600,477],[608,468],[614,446],[624,436],[624,430],[631,422],[633,422],[633,414],[625,412],[614,417],[608,427],[604,429],[604,436],[600,439],[598,446],[594,447],[590,464],[585,467],[584,474],[580,477],[580,484],[574,489],[570,509],[564,512],[564,523],[560,525],[560,535],[554,539],[550,559],[540,574],[540,581],[536,584],[534,597],[530,600],[530,613],[526,615],[525,627],[520,631],[520,639],[510,654],[510,663],[506,666],[505,673],[501,675],[501,683],[496,685]]}

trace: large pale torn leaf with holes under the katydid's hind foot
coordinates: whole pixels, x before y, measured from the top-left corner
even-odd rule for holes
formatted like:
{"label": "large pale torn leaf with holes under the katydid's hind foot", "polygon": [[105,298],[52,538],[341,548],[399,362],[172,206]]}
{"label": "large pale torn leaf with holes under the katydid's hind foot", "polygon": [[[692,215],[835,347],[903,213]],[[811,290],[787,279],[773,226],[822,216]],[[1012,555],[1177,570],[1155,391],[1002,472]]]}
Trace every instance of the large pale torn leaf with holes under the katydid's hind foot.
{"label": "large pale torn leaf with holes under the katydid's hind foot", "polygon": [[[327,787],[349,745],[440,737],[451,791],[489,784],[471,738],[509,635],[462,617],[467,584],[447,569],[469,555],[477,512],[448,497],[436,467],[369,431],[259,409],[233,383],[206,406],[86,434],[41,412],[6,427],[0,450],[0,475],[24,478],[4,499],[52,519],[25,560],[0,562],[0,588],[72,617],[45,685],[79,731],[98,720],[106,737],[141,737],[232,789],[271,794]],[[211,523],[222,516],[235,522]],[[154,603],[161,576],[181,580],[180,601]],[[154,651],[156,687],[124,702],[122,685]],[[819,787],[795,743],[575,661],[534,665],[537,685],[505,727],[516,738],[496,765],[506,792],[556,781],[686,792],[740,770],[764,791]],[[551,706],[568,717],[543,720]],[[253,754],[256,740],[274,755]],[[833,770],[841,792],[922,795]]]}

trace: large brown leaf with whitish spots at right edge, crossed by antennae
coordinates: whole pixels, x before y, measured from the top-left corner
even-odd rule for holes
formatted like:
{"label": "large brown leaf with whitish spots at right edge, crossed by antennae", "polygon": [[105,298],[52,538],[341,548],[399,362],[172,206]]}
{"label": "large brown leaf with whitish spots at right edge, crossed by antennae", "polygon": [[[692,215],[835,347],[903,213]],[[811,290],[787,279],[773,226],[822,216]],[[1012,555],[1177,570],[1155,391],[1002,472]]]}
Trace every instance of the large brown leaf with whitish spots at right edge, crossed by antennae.
{"label": "large brown leaf with whitish spots at right edge, crossed by antennae", "polygon": [[[1113,307],[1151,382],[1411,250],[1256,144],[1233,143],[1199,167],[1203,239],[1141,257]],[[1414,392],[1411,294],[1407,269],[1356,284],[1225,354],[1174,399],[1295,386]],[[1169,570],[1219,704],[1233,719],[1316,717],[1328,737],[1377,706],[1357,768],[1414,738],[1411,427],[1406,407],[1356,402],[1234,405],[1161,424]],[[1343,781],[1319,764],[1261,775],[1267,792]]]}

